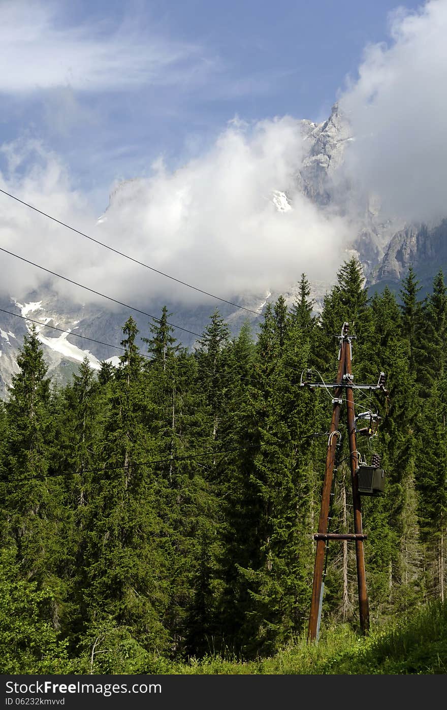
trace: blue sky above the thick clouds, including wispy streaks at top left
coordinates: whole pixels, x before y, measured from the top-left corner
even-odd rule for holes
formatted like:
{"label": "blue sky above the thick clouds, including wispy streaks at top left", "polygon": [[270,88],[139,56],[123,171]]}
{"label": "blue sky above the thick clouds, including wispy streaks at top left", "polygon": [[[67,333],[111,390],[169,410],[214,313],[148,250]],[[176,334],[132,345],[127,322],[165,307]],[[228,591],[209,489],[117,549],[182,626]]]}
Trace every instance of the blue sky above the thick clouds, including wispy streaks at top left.
{"label": "blue sky above the thick clouds, including wispy streaks at top left", "polygon": [[325,119],[396,6],[3,0],[0,143],[41,141],[99,208],[114,180],[158,155],[182,165],[235,116]]}

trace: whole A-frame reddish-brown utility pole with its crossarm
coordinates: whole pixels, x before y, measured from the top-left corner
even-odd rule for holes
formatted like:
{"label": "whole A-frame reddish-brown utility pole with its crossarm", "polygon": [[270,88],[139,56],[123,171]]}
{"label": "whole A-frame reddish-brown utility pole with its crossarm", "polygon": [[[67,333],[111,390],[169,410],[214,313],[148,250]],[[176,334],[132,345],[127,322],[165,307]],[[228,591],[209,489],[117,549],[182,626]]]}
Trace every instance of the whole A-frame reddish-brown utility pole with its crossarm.
{"label": "whole A-frame reddish-brown utility pole with its crossarm", "polygon": [[[365,555],[363,550],[363,540],[367,537],[362,531],[362,510],[360,506],[360,493],[358,490],[357,469],[359,464],[359,456],[357,452],[356,432],[355,432],[355,409],[354,409],[354,381],[352,377],[352,339],[354,336],[349,335],[349,324],[343,323],[340,339],[340,351],[338,354],[338,371],[335,383],[309,383],[301,382],[301,386],[310,388],[325,387],[333,388],[334,397],[333,413],[330,422],[328,452],[326,454],[325,476],[323,481],[323,492],[321,494],[321,512],[318,521],[318,532],[314,535],[316,540],[316,556],[315,567],[313,572],[313,586],[311,599],[311,613],[308,626],[308,641],[318,640],[321,607],[323,604],[324,579],[323,569],[325,564],[325,552],[329,544],[329,540],[352,540],[355,542],[355,559],[357,562],[357,585],[360,608],[360,628],[362,633],[366,634],[370,628],[370,612],[368,606],[366,577],[365,577]],[[359,389],[367,390],[384,390],[384,373],[380,373],[377,385],[356,385]],[[334,462],[335,462],[335,447],[340,439],[338,432],[338,424],[340,422],[340,410],[343,403],[343,392],[346,393],[347,407],[347,424],[348,437],[350,448],[350,469],[352,483],[352,506],[354,511],[354,532],[346,533],[331,533],[328,532],[329,511],[330,511],[330,493],[333,486]],[[372,415],[372,413],[371,413]],[[373,416],[373,415],[372,415]],[[376,416],[376,415],[374,415]]]}

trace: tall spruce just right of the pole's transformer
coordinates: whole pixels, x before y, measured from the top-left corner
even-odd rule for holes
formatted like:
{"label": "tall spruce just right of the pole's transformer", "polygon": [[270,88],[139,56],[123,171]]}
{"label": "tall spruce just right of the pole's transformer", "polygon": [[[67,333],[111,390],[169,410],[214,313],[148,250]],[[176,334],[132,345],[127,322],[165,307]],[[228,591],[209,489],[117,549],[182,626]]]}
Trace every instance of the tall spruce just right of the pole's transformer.
{"label": "tall spruce just right of the pole's transformer", "polygon": [[372,581],[372,604],[383,615],[414,603],[420,582],[414,435],[417,400],[399,310],[402,309],[388,288],[372,300],[375,330],[370,362],[376,372],[384,371],[389,395],[375,395],[371,400],[382,415],[382,422],[377,443],[373,439],[370,445],[382,455],[381,466],[387,477],[384,496],[371,501],[362,498],[362,505],[369,536],[365,555]]}

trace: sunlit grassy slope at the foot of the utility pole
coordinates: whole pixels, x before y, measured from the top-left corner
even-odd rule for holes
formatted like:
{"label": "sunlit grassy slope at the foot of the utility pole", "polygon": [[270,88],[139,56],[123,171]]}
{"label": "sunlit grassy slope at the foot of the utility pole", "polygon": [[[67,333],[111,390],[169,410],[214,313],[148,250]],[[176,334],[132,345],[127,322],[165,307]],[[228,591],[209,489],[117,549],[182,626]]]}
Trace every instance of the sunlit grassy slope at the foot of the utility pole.
{"label": "sunlit grassy slope at the foot of the utility pole", "polygon": [[346,625],[301,637],[271,658],[237,662],[206,657],[173,664],[173,674],[446,674],[447,603],[431,603],[397,623],[359,637]]}

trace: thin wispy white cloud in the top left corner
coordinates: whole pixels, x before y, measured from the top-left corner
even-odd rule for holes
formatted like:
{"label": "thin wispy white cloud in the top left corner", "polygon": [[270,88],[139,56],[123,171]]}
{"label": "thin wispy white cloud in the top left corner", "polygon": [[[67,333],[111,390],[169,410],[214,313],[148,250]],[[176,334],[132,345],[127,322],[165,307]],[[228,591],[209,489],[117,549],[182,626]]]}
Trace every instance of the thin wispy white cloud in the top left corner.
{"label": "thin wispy white cloud in the top left corner", "polygon": [[198,82],[208,72],[200,48],[143,32],[138,21],[63,26],[58,3],[3,0],[0,91],[70,86],[86,92]]}

